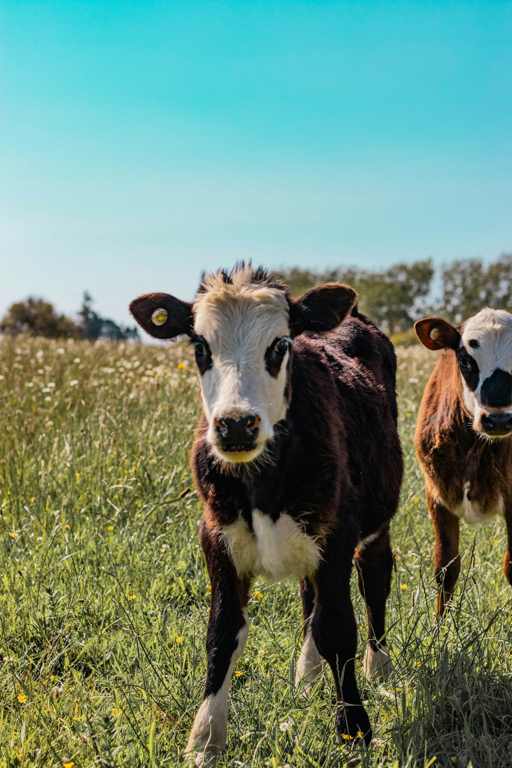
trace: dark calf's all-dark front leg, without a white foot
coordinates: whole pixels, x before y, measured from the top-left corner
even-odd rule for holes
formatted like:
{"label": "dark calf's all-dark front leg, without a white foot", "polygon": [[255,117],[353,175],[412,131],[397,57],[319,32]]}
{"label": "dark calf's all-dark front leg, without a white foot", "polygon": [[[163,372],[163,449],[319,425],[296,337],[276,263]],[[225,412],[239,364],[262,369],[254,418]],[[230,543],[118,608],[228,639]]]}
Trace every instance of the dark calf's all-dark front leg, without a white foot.
{"label": "dark calf's all-dark front leg, without a white foot", "polygon": [[[341,538],[341,537],[340,537]],[[372,728],[355,682],[357,633],[350,597],[352,551],[342,541],[330,541],[315,574],[315,610],[311,617],[312,637],[319,653],[332,669],[338,713],[336,733],[372,740]]]}

